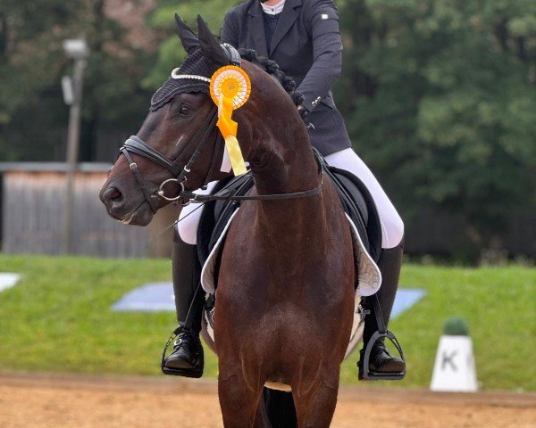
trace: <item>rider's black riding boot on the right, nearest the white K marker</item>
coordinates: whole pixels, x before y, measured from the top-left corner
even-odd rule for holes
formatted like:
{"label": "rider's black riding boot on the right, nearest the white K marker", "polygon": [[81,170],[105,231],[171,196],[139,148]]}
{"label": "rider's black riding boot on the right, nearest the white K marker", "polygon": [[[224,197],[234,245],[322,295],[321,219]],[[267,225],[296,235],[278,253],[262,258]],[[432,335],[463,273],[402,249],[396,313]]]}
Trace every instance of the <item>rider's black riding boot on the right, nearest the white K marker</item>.
{"label": "rider's black riding boot on the right, nearest the white K marker", "polygon": [[[398,277],[400,276],[400,268],[402,266],[402,254],[404,252],[404,241],[398,244],[395,248],[381,250],[378,268],[381,271],[381,288],[378,292],[378,300],[380,300],[381,314],[385,326],[389,323],[391,309],[398,289]],[[373,305],[369,304],[368,309],[371,311],[364,323],[363,333],[363,349],[360,352],[360,359],[357,363],[359,367],[359,379],[364,379],[364,350],[370,341],[373,333],[378,331],[378,322],[374,313]],[[383,340],[378,340],[374,343],[369,359],[369,369],[373,372],[385,374],[397,374],[406,370],[404,361],[398,357],[391,357],[385,349]]]}

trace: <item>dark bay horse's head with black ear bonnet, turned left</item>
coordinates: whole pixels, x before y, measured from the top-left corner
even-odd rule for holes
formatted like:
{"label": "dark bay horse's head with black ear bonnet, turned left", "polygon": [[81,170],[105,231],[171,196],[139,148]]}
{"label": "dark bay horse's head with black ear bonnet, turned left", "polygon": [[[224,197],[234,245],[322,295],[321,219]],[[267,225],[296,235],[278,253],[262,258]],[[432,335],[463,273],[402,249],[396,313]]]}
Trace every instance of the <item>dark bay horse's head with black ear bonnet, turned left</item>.
{"label": "dark bay horse's head with black ear bonnet, turned left", "polygon": [[172,198],[228,175],[220,170],[223,144],[209,82],[215,70],[236,59],[236,51],[220,45],[201,18],[198,36],[175,18],[188,57],[153,95],[147,119],[121,147],[100,192],[109,215],[126,224],[146,226],[169,203],[161,187]]}

